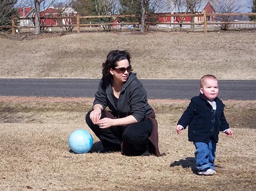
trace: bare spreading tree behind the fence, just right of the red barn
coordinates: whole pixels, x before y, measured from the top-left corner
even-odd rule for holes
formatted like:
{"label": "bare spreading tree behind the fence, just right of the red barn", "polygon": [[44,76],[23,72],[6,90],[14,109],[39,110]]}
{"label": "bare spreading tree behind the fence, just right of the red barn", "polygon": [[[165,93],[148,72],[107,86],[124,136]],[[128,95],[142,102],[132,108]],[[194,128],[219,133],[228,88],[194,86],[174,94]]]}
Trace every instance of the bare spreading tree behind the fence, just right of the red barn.
{"label": "bare spreading tree behind the fence, just right of the red barn", "polygon": [[[240,13],[243,5],[239,0],[211,0],[211,5],[214,7],[216,13]],[[223,15],[215,17],[216,21],[225,22],[225,24],[218,25],[220,30],[228,30],[232,16]]]}

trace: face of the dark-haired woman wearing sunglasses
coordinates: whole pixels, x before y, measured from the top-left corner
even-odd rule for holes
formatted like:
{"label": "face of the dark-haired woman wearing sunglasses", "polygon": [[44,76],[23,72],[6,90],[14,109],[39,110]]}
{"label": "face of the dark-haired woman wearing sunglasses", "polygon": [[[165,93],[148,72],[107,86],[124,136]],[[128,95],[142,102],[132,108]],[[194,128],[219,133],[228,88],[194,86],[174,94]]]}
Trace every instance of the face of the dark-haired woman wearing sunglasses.
{"label": "face of the dark-haired woman wearing sunglasses", "polygon": [[127,59],[116,62],[114,69],[110,70],[113,75],[113,80],[116,82],[126,82],[130,72],[131,66],[129,66],[129,61]]}

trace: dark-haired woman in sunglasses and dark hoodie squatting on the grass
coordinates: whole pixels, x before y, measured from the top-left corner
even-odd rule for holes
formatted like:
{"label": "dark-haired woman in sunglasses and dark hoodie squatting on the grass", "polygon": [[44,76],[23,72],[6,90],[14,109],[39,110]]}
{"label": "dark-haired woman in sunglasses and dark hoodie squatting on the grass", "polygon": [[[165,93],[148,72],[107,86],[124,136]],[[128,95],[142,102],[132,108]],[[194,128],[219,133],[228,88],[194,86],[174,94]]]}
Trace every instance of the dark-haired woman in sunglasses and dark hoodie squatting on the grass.
{"label": "dark-haired woman in sunglasses and dark hoodie squatting on the grass", "polygon": [[88,126],[102,142],[102,152],[163,155],[158,149],[155,113],[142,83],[132,73],[130,53],[113,50],[102,67],[93,109],[86,115]]}

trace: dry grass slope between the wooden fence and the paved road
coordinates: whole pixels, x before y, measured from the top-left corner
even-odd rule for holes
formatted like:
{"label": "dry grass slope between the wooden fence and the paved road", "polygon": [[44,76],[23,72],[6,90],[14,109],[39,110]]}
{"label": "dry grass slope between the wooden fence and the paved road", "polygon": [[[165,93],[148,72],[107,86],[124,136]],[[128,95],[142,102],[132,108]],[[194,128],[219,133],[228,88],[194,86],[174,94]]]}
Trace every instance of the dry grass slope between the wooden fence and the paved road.
{"label": "dry grass slope between the wooden fence and the paved road", "polygon": [[[86,32],[55,38],[0,37],[0,77],[100,78],[113,49],[132,53],[140,78],[255,80],[256,31]],[[26,39],[26,38],[25,38]]]}

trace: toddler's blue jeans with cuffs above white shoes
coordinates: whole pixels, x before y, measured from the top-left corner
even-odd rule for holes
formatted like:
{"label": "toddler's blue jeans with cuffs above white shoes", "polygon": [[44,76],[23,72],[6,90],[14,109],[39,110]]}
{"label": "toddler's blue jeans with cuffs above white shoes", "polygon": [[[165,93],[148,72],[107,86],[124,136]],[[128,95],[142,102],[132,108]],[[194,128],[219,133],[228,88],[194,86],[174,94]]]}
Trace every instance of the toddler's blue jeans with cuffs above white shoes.
{"label": "toddler's blue jeans with cuffs above white shoes", "polygon": [[216,142],[194,142],[194,145],[196,147],[196,168],[199,171],[202,171],[205,168],[211,168],[212,170],[215,170],[214,161],[216,152]]}

